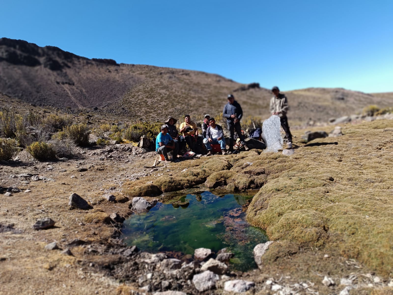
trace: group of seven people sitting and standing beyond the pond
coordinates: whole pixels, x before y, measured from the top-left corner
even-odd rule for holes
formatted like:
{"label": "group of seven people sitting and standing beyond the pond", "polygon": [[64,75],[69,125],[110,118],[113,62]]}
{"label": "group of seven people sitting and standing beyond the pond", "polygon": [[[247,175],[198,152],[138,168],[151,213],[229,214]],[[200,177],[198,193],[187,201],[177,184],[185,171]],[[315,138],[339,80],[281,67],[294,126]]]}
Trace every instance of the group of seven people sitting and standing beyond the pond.
{"label": "group of seven people sitting and standing beyond the pond", "polygon": [[[283,127],[286,137],[288,139],[288,148],[292,148],[292,135],[289,130],[286,112],[288,111],[288,100],[284,94],[280,93],[277,86],[272,88],[274,96],[270,100],[270,112],[272,115],[280,117],[281,126]],[[202,123],[202,134],[199,134],[198,127],[191,121],[190,115],[184,116],[184,122],[180,124],[180,129],[177,130],[177,120],[172,116],[167,118],[164,125],[161,126],[161,132],[156,138],[156,152],[163,155],[165,162],[178,161],[181,156],[181,151],[186,150],[186,145],[191,151],[197,153],[202,150],[202,144],[208,150],[207,155],[213,154],[213,144],[219,144],[221,154],[226,155],[233,153],[233,142],[235,131],[240,139],[241,146],[245,146],[244,136],[242,134],[240,120],[243,116],[243,110],[240,104],[235,100],[232,94],[228,95],[228,103],[222,110],[222,116],[226,118],[227,127],[230,133],[229,149],[226,149],[226,141],[224,131],[219,124],[216,124],[215,118],[205,115]],[[173,152],[173,158],[170,159],[168,152]]]}

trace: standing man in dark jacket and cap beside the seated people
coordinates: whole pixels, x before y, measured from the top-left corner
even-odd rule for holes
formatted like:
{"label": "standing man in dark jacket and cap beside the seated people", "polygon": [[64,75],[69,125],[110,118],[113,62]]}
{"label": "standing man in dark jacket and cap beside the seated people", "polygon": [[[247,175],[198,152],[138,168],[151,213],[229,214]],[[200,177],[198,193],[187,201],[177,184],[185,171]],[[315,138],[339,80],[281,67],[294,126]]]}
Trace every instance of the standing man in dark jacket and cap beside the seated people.
{"label": "standing man in dark jacket and cap beside the seated people", "polygon": [[234,130],[236,130],[237,136],[240,138],[240,143],[245,145],[244,136],[242,135],[242,127],[240,125],[240,119],[243,116],[243,110],[239,103],[235,100],[232,94],[228,95],[228,103],[224,106],[222,110],[222,116],[226,118],[226,123],[228,124],[228,130],[230,134],[229,138],[229,152],[233,152],[233,135],[235,135]]}

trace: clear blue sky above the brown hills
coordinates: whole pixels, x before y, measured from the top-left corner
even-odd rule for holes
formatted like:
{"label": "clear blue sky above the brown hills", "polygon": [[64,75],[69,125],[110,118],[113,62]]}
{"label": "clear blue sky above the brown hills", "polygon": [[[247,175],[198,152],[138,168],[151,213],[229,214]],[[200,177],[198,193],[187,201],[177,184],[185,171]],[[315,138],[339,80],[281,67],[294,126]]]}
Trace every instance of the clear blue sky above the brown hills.
{"label": "clear blue sky above the brown hills", "polygon": [[0,37],[281,90],[393,91],[393,1],[6,1]]}

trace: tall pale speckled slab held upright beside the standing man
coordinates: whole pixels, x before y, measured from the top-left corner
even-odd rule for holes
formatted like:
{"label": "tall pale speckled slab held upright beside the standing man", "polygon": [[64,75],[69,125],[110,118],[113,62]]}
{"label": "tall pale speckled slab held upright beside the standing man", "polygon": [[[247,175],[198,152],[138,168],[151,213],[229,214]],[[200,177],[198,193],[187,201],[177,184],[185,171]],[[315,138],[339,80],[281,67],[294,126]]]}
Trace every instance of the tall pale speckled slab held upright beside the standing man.
{"label": "tall pale speckled slab held upright beside the standing man", "polygon": [[277,153],[283,148],[283,138],[281,138],[280,117],[273,115],[263,122],[262,138],[266,144],[265,152]]}

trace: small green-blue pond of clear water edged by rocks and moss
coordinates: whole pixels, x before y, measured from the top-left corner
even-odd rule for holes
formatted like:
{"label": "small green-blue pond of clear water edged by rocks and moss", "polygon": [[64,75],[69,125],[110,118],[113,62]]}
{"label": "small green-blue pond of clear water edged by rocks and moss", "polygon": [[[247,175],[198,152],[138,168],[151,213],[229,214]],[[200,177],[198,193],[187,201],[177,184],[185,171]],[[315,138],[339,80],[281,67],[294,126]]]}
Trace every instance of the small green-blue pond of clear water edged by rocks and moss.
{"label": "small green-blue pond of clear water edged by rocks and moss", "polygon": [[255,268],[253,248],[268,239],[263,230],[249,225],[242,212],[252,196],[211,192],[185,195],[172,204],[157,203],[147,213],[132,214],[124,223],[122,238],[142,251],[194,254],[197,248],[234,253],[231,269]]}

